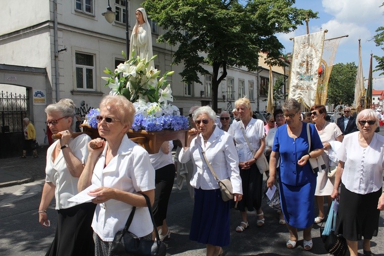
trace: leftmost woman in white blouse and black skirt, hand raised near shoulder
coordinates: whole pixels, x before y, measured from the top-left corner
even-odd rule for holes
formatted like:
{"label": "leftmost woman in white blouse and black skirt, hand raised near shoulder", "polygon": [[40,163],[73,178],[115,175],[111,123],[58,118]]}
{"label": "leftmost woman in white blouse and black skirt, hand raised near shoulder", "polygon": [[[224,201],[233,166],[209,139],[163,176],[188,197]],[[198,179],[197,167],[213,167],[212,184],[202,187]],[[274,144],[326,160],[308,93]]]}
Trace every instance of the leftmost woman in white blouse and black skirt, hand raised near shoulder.
{"label": "leftmost woman in white blouse and black skirt, hand raised near shoulder", "polygon": [[91,140],[82,134],[72,138],[75,104],[61,99],[46,107],[49,129],[60,134],[47,150],[46,178],[39,206],[39,222],[49,226],[47,208],[55,196],[58,212],[56,234],[46,255],[93,255],[93,231],[90,227],[95,205],[69,202],[77,194],[77,182],[88,156],[87,143]]}

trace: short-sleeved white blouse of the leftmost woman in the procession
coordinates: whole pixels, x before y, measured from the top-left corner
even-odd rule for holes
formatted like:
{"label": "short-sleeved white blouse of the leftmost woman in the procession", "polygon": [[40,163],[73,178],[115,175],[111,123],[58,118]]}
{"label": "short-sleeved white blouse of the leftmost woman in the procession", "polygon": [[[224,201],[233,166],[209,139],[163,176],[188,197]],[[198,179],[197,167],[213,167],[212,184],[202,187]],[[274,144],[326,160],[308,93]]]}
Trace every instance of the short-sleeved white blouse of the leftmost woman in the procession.
{"label": "short-sleeved white blouse of the leftmost woman in the procession", "polygon": [[[70,139],[68,146],[73,155],[77,157],[83,164],[88,158],[87,144],[91,138],[82,134],[74,139]],[[63,152],[60,151],[53,162],[52,154],[56,149],[60,140],[55,141],[47,150],[47,166],[45,167],[45,182],[52,182],[55,185],[56,210],[67,209],[78,205],[77,202],[69,202],[68,199],[78,193],[77,182],[79,178],[73,177],[68,171],[65,163]]]}

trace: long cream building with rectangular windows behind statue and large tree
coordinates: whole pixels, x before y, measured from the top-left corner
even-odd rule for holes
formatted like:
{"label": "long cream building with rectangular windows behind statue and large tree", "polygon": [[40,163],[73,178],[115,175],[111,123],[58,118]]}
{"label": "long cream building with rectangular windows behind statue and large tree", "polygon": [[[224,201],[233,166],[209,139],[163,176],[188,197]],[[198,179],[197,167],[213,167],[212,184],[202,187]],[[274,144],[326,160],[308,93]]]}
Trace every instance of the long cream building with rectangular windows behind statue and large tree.
{"label": "long cream building with rectangular windows behind statue and large tree", "polygon": [[[124,60],[121,51],[126,49],[125,19],[131,35],[135,10],[141,2],[111,0],[112,11],[116,12],[111,24],[101,15],[106,12],[107,0],[3,2],[0,9],[0,93],[3,91],[0,104],[3,105],[0,107],[4,110],[5,92],[12,92],[14,86],[24,87],[26,93],[24,112],[3,115],[0,129],[8,137],[12,133],[20,135],[20,121],[29,117],[36,127],[37,140],[43,145],[47,104],[71,98],[77,106],[76,112],[82,117],[90,108],[98,107],[101,97],[109,93],[100,77],[105,76],[103,70],[106,67],[114,69]],[[183,66],[171,65],[175,47],[157,43],[163,30],[150,22],[153,53],[158,55],[156,68],[162,73],[175,71],[170,77],[174,104],[184,114],[193,105],[210,104],[211,76],[200,77],[203,84],[183,83],[178,74]],[[248,72],[245,68],[227,69],[228,75],[218,91],[219,111],[234,107],[234,100],[242,96],[249,97],[253,110],[266,109],[269,67],[264,63],[264,56],[261,53],[258,72]],[[206,69],[211,70],[211,67],[206,66]],[[283,75],[288,85],[289,67],[273,67],[272,70],[274,81]],[[288,88],[285,89],[288,92]],[[0,140],[4,141],[5,136],[2,135]]]}

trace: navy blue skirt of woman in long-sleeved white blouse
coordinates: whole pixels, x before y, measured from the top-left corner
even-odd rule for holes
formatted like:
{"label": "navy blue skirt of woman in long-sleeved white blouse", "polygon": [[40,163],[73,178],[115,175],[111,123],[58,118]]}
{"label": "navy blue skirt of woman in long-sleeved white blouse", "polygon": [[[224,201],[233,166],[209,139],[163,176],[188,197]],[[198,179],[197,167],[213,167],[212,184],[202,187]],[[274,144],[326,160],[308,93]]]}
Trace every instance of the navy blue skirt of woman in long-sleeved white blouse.
{"label": "navy blue skirt of woman in long-sleeved white blouse", "polygon": [[230,202],[221,199],[219,189],[195,188],[195,204],[189,239],[215,246],[229,245]]}

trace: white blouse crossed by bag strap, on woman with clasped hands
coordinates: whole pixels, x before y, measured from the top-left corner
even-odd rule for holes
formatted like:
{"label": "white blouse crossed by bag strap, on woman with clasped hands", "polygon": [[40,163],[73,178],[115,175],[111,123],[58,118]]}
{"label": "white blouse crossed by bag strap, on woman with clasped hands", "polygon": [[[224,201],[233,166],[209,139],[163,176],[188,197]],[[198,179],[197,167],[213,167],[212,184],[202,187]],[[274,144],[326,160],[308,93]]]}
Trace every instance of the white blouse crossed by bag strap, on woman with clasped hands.
{"label": "white blouse crossed by bag strap, on woman with clasped hands", "polygon": [[260,140],[264,138],[264,122],[260,119],[251,118],[248,125],[246,125],[245,135],[252,147],[253,153],[250,151],[241,129],[244,129],[244,124],[239,120],[229,126],[228,133],[235,140],[239,161],[245,162],[251,160],[254,152],[260,148]]}

